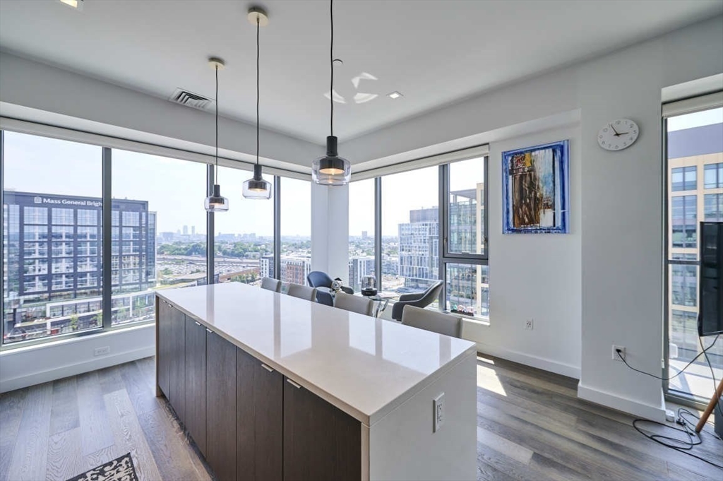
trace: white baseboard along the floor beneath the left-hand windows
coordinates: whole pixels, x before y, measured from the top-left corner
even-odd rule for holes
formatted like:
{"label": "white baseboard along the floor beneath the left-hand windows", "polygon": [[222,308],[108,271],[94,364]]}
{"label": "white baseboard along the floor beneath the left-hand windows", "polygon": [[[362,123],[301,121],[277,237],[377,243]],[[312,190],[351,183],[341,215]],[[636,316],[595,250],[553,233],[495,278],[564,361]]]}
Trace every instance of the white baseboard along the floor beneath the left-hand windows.
{"label": "white baseboard along the floor beneath the left-hand windows", "polygon": [[103,369],[104,367],[111,367],[150,356],[155,356],[155,346],[96,357],[71,365],[59,366],[51,370],[22,375],[17,378],[4,379],[2,383],[0,383],[0,393],[27,388],[28,386],[35,386],[35,384],[47,383],[48,381],[67,378],[68,376],[89,373],[90,371]]}

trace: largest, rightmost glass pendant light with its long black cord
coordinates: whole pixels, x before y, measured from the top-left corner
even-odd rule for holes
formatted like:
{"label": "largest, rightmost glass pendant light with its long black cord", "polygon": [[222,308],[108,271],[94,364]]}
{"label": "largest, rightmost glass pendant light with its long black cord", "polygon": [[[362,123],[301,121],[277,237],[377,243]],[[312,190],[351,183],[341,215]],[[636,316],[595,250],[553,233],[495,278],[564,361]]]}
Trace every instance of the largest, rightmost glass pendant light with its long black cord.
{"label": "largest, rightmost glass pendant light with its long black cord", "polygon": [[329,101],[331,103],[331,135],[326,137],[326,156],[317,158],[312,162],[312,179],[322,185],[345,185],[351,178],[351,164],[346,158],[339,157],[337,138],[334,137],[334,0],[329,2],[329,17],[331,20],[331,46],[329,49],[329,67],[331,69],[331,89]]}

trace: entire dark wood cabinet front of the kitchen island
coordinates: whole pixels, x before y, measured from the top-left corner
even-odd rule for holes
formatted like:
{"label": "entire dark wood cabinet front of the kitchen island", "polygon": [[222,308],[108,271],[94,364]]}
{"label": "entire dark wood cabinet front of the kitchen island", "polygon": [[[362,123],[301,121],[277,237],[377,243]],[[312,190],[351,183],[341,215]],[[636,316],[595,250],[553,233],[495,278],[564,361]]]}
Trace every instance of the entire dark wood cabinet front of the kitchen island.
{"label": "entire dark wood cabinet front of the kitchen island", "polygon": [[158,299],[158,388],[218,481],[359,480],[361,425]]}

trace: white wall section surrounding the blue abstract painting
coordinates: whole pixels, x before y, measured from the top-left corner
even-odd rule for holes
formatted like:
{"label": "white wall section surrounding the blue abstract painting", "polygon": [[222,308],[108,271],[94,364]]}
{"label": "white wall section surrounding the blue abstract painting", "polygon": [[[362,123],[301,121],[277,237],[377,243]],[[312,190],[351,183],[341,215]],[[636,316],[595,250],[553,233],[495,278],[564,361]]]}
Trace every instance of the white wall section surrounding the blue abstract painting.
{"label": "white wall section surrounding the blue abstract painting", "polygon": [[[570,234],[502,235],[502,152],[570,140]],[[489,325],[467,322],[481,352],[580,377],[581,177],[579,127],[489,145]],[[526,319],[534,328],[524,328]]]}

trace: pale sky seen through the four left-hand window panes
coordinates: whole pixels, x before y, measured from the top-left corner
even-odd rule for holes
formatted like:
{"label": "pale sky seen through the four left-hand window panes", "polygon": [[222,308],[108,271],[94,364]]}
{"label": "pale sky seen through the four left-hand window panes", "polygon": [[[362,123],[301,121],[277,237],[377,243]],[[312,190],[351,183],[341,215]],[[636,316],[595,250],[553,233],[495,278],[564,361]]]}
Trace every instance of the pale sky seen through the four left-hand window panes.
{"label": "pale sky seen through the four left-hand window panes", "polygon": [[[102,149],[48,137],[5,132],[4,189],[56,195],[101,196]],[[183,226],[205,234],[206,166],[203,163],[150,156],[114,149],[114,198],[147,200],[158,213],[158,232],[176,232]],[[273,235],[273,200],[248,200],[241,196],[250,171],[219,167],[221,195],[229,210],[215,216],[215,230],[222,233]],[[273,182],[273,176],[265,176]],[[310,182],[283,178],[281,232],[311,234]]]}

